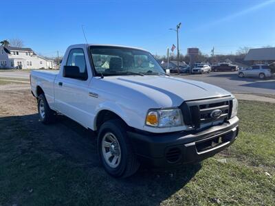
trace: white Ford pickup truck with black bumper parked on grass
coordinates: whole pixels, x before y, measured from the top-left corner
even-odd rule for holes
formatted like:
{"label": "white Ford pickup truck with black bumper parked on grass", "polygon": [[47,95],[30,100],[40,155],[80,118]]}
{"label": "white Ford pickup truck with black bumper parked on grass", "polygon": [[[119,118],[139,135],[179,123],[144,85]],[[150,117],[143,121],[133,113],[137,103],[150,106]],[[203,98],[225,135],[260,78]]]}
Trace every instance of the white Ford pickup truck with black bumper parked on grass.
{"label": "white Ford pickup truck with black bumper parked on grass", "polygon": [[98,134],[98,154],[115,177],[140,163],[194,163],[230,146],[239,131],[234,95],[166,75],[143,49],[72,45],[59,71],[32,71],[41,122],[63,114]]}

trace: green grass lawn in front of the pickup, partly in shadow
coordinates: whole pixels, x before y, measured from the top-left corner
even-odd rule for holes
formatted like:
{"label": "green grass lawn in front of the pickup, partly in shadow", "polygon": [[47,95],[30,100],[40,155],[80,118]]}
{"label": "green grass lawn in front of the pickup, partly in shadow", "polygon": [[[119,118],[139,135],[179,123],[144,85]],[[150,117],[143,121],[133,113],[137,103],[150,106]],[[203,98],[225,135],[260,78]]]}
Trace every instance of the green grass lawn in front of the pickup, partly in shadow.
{"label": "green grass lawn in front of the pickup, partly in shadow", "polygon": [[29,117],[0,117],[0,205],[274,205],[275,104],[240,101],[239,118],[239,138],[210,159],[113,179],[54,149]]}

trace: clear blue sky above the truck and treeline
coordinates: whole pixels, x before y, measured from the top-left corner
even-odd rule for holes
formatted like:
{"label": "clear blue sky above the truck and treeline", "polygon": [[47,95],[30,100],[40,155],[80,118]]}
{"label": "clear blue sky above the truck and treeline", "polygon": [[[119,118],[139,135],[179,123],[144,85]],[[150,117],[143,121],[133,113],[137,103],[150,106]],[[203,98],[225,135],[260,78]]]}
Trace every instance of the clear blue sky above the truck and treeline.
{"label": "clear blue sky above the truck and treeline", "polygon": [[239,47],[275,46],[275,1],[19,1],[1,2],[0,39],[21,38],[45,56],[63,54],[68,45],[131,45],[163,55],[176,45],[168,30],[181,22],[179,48],[234,54]]}

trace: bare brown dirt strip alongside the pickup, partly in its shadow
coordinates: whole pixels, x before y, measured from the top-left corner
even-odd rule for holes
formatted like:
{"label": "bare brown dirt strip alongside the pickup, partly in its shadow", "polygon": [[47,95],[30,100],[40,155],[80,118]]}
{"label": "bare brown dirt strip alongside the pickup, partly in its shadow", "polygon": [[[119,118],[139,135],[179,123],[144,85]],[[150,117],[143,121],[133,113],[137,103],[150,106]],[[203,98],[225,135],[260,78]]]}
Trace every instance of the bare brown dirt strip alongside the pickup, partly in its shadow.
{"label": "bare brown dirt strip alongside the pickup, partly in its shadow", "polygon": [[1,85],[0,91],[0,117],[19,119],[34,135],[49,141],[63,155],[80,163],[98,165],[94,133],[63,116],[58,117],[56,124],[41,124],[38,121],[36,99],[25,84]]}

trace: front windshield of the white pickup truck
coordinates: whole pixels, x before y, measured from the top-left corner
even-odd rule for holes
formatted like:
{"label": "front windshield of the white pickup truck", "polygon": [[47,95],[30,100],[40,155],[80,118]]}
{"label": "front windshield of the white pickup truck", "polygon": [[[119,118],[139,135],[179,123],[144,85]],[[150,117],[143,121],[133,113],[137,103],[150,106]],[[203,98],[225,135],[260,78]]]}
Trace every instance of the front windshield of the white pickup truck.
{"label": "front windshield of the white pickup truck", "polygon": [[165,75],[153,56],[139,49],[91,46],[97,76]]}

